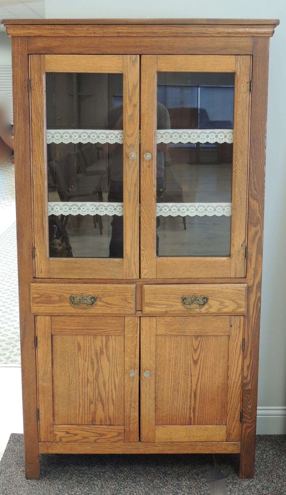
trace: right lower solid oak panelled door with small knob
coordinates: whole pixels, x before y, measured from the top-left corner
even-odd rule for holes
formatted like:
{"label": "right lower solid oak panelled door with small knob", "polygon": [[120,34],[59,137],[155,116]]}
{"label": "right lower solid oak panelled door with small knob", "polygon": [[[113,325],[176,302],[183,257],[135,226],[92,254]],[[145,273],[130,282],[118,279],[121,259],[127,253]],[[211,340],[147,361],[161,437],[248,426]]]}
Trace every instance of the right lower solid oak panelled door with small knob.
{"label": "right lower solid oak panelled door with small knob", "polygon": [[141,441],[240,439],[243,316],[141,318]]}

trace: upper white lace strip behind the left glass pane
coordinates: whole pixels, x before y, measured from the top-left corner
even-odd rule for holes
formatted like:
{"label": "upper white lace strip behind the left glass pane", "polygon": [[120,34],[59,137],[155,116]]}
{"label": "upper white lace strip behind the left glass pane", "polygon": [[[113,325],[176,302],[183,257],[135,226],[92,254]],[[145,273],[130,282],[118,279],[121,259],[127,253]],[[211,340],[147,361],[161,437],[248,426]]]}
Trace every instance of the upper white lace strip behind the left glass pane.
{"label": "upper white lace strip behind the left glass pane", "polygon": [[66,130],[51,130],[47,131],[47,143],[123,143],[123,131],[104,131],[90,129],[66,129]]}

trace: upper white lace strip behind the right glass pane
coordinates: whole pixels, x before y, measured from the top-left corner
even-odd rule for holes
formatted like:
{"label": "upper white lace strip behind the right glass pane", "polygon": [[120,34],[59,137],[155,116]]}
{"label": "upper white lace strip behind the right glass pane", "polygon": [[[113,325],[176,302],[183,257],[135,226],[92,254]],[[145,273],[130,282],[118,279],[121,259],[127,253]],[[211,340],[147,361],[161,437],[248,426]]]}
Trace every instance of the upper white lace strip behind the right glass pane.
{"label": "upper white lace strip behind the right glass pane", "polygon": [[157,131],[157,143],[233,143],[233,129],[165,129]]}

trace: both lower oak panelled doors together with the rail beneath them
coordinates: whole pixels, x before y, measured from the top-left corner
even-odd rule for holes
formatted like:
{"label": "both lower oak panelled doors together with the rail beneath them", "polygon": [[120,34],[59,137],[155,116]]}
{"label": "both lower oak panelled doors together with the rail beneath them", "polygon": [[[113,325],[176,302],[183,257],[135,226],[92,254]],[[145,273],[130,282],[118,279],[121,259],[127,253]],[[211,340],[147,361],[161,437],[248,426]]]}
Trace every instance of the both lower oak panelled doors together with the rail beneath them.
{"label": "both lower oak panelled doors together with the rail beneath them", "polygon": [[37,316],[36,332],[41,451],[239,451],[243,316]]}

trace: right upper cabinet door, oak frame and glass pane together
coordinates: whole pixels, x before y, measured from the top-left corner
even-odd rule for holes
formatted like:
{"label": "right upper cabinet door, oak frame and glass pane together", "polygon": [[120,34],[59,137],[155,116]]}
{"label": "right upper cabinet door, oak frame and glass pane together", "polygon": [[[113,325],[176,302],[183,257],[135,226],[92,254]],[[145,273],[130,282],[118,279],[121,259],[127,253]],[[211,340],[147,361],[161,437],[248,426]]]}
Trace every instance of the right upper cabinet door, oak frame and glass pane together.
{"label": "right upper cabinet door, oak frame and glass pane together", "polygon": [[249,81],[249,56],[142,56],[143,278],[244,276]]}

